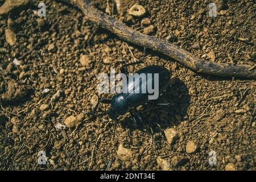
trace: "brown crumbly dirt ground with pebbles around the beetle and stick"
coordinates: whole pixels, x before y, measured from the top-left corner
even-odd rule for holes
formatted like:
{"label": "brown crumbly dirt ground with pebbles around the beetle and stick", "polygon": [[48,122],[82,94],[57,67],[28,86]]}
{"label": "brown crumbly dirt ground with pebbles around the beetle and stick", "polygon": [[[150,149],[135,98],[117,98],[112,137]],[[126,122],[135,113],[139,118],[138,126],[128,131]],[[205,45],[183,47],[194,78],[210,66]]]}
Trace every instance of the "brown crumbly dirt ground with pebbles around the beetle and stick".
{"label": "brown crumbly dirt ground with pebbles around the beetle and stick", "polygon": [[[119,15],[113,1],[95,6],[202,59],[255,64],[254,1],[215,1],[216,17],[208,15],[209,1],[138,2],[147,12],[141,18]],[[98,93],[97,76],[137,61],[143,48],[60,2],[44,1],[46,17],[39,18],[38,3],[0,19],[1,170],[255,170],[254,80],[198,74],[147,50],[144,63],[129,72],[147,65],[169,69],[170,87],[158,100],[169,104],[140,107],[142,124],[129,114],[120,117],[113,142],[108,115],[82,113],[99,97],[113,96]],[[145,30],[144,18],[152,31]],[[171,144],[167,129],[176,133]],[[46,152],[45,165],[38,163],[39,151]]]}

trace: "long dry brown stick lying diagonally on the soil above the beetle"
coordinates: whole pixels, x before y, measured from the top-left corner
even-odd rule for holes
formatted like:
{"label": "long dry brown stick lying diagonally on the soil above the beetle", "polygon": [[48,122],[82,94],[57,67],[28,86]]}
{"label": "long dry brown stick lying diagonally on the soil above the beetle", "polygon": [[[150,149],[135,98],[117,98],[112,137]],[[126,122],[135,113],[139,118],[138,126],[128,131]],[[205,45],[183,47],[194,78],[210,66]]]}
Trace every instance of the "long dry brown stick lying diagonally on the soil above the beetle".
{"label": "long dry brown stick lying diagonally on the soil above the beetle", "polygon": [[201,60],[192,53],[185,51],[176,45],[135,31],[132,28],[127,27],[124,23],[119,22],[119,20],[112,18],[112,16],[97,10],[95,7],[93,7],[89,0],[61,1],[77,6],[91,22],[98,24],[100,27],[105,28],[113,34],[119,36],[119,38],[138,46],[146,47],[152,49],[153,51],[163,53],[164,55],[175,59],[177,62],[185,65],[185,67],[192,69],[193,71],[218,76],[244,77],[253,79],[256,77],[255,69],[250,70],[249,65],[212,63],[211,61]]}

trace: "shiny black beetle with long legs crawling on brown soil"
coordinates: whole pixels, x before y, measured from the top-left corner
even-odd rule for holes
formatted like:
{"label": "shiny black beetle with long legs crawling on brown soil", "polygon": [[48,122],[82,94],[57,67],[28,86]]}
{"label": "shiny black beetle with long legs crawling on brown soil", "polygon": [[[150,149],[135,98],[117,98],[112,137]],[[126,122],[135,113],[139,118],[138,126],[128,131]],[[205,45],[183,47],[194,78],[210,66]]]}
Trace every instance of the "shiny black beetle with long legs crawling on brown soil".
{"label": "shiny black beetle with long legs crawling on brown soil", "polygon": [[[125,73],[127,75],[125,68],[128,67],[129,65],[143,63],[144,57],[145,57],[145,48],[144,48],[142,60],[137,61],[135,63],[129,63],[129,64],[123,65],[123,67],[121,69],[121,73]],[[145,73],[146,76],[147,76],[147,73],[151,73],[152,77],[151,77],[151,79],[148,79],[148,77],[147,77],[146,82],[140,81],[139,84],[137,84],[137,85],[134,85],[133,82],[128,82],[127,83],[127,93],[115,94],[111,100],[100,100],[100,101],[98,101],[97,105],[94,107],[94,109],[91,113],[86,113],[86,114],[95,114],[97,107],[99,106],[100,103],[111,104],[111,108],[108,111],[105,111],[102,115],[108,114],[109,117],[115,121],[114,135],[115,135],[115,127],[117,125],[117,117],[119,115],[125,115],[127,112],[130,112],[131,119],[133,119],[134,122],[138,122],[138,121],[142,122],[142,117],[137,112],[136,107],[146,104],[146,102],[150,101],[148,99],[148,95],[149,95],[148,92],[146,92],[146,93],[131,93],[131,90],[134,90],[136,88],[143,90],[144,87],[147,88],[149,81],[152,81],[151,85],[154,85],[154,74],[158,73],[159,94],[161,94],[167,88],[167,86],[169,85],[170,80],[171,80],[171,72],[168,71],[168,69],[166,69],[162,66],[159,66],[159,65],[150,65],[148,67],[144,67],[136,73],[138,73],[138,74]]]}

